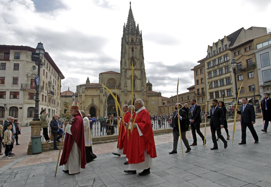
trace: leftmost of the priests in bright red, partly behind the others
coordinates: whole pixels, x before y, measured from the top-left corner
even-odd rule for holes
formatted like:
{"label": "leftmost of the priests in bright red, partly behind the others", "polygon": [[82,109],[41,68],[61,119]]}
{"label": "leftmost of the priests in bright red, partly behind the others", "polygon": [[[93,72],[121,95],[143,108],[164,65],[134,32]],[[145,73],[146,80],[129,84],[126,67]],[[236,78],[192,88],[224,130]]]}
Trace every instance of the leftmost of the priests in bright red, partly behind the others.
{"label": "leftmost of the priests in bright red, partly behind the others", "polygon": [[126,155],[127,147],[124,147],[124,141],[125,141],[125,138],[127,138],[127,136],[126,136],[127,133],[126,133],[125,128],[126,128],[126,123],[128,123],[131,118],[131,114],[128,111],[127,104],[123,105],[122,110],[124,112],[123,119],[121,119],[119,116],[117,116],[118,120],[121,119],[119,122],[120,129],[119,129],[117,149],[115,152],[112,152],[113,155],[118,155],[118,156],[120,156],[121,154]]}

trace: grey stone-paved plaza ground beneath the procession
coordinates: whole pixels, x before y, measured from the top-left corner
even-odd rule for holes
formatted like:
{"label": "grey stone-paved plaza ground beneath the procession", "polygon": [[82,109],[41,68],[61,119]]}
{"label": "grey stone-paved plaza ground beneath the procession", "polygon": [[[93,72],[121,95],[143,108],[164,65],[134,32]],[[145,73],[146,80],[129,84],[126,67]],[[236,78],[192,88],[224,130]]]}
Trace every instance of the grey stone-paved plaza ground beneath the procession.
{"label": "grey stone-paved plaza ground beneath the procession", "polygon": [[[223,148],[222,141],[218,141],[219,149],[210,150],[213,146],[210,127],[208,127],[205,148],[198,140],[197,146],[192,146],[192,151],[182,156],[179,141],[178,153],[169,155],[172,150],[172,134],[155,136],[160,139],[156,144],[157,158],[153,159],[154,168],[151,174],[139,176],[127,174],[123,170],[125,157],[115,156],[111,152],[98,154],[97,158],[86,165],[79,174],[68,175],[58,167],[57,176],[54,178],[56,161],[36,164],[31,155],[22,155],[0,168],[0,186],[271,186],[271,134],[261,131],[261,119],[257,119],[255,129],[259,136],[259,143],[255,144],[250,131],[247,129],[247,144],[238,145],[241,140],[240,122],[236,124],[234,141],[228,140],[228,147]],[[229,124],[229,130],[232,129]],[[204,133],[204,128],[201,128]],[[223,131],[223,130],[222,130]],[[187,132],[188,141],[191,131]],[[225,131],[223,131],[225,135]],[[224,136],[225,137],[225,136]],[[157,142],[157,140],[156,140]],[[97,146],[98,145],[94,145]],[[116,147],[116,146],[114,146]],[[112,149],[114,149],[114,147]],[[184,151],[185,146],[184,147]],[[53,152],[53,151],[51,151]],[[53,152],[54,156],[56,152]],[[52,153],[51,153],[52,154]],[[42,154],[39,154],[42,156]],[[38,155],[36,155],[38,156]],[[57,156],[56,156],[57,157]],[[28,163],[20,166],[20,162],[29,159]],[[2,160],[3,158],[1,158]],[[33,159],[33,160],[31,160]],[[48,159],[43,157],[43,159]],[[51,159],[51,158],[50,158]],[[57,158],[56,158],[57,159]],[[54,158],[55,160],[55,158]],[[20,166],[20,167],[16,167]],[[139,173],[141,171],[137,171]]]}

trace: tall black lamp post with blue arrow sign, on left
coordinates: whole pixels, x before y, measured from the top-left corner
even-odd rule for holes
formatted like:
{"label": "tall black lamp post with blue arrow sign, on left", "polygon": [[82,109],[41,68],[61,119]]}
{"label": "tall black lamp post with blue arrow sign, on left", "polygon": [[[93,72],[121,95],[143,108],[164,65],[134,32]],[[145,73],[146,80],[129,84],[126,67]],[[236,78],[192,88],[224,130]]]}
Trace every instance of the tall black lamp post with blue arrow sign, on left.
{"label": "tall black lamp post with blue arrow sign, on left", "polygon": [[41,42],[38,43],[36,47],[36,53],[32,53],[31,59],[35,62],[35,64],[38,66],[38,75],[35,78],[36,83],[36,98],[35,98],[35,112],[34,112],[34,118],[33,121],[39,121],[39,75],[40,75],[40,68],[42,67],[42,58],[44,55],[44,48]]}

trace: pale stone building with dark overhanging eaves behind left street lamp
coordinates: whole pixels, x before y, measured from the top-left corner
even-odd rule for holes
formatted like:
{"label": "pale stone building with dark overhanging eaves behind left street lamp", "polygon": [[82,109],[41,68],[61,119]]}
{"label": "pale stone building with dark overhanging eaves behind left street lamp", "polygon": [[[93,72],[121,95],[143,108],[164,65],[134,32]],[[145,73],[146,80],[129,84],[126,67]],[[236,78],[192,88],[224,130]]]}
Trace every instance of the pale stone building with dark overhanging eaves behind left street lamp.
{"label": "pale stone building with dark overhanging eaves behind left street lamp", "polygon": [[[37,66],[31,61],[36,49],[28,46],[0,45],[0,119],[18,119],[21,126],[34,117]],[[39,112],[46,109],[48,118],[60,112],[60,86],[63,74],[45,52],[40,69]]]}

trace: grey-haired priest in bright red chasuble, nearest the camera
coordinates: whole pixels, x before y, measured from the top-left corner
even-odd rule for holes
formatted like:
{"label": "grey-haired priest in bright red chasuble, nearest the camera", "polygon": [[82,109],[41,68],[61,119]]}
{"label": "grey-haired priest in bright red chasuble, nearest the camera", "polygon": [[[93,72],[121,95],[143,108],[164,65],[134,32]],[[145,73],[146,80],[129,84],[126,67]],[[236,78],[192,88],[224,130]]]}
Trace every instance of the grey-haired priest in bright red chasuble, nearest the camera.
{"label": "grey-haired priest in bright red chasuble, nearest the camera", "polygon": [[137,99],[134,105],[137,111],[133,119],[130,119],[132,133],[129,137],[131,141],[127,152],[129,169],[124,172],[136,174],[136,170],[143,169],[139,175],[147,175],[151,173],[152,158],[157,157],[151,118],[142,99]]}

